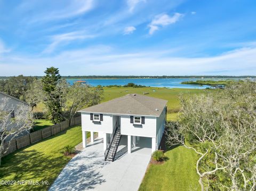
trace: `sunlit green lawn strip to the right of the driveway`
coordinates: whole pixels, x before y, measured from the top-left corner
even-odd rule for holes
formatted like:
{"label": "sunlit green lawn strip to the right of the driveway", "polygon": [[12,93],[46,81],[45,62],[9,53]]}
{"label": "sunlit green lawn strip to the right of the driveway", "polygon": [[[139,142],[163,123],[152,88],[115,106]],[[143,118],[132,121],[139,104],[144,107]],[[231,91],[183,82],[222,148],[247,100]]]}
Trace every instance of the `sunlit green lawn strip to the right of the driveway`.
{"label": "sunlit green lawn strip to the right of the driveway", "polygon": [[139,191],[187,191],[198,189],[196,173],[197,155],[192,150],[178,146],[165,153],[163,164],[149,164]]}

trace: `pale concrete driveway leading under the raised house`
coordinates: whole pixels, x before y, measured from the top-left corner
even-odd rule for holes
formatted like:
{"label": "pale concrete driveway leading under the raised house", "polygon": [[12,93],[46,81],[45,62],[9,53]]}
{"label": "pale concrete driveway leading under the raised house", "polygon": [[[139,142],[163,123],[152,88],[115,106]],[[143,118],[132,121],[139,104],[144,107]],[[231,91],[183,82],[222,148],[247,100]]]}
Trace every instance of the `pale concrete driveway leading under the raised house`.
{"label": "pale concrete driveway leading under the raised house", "polygon": [[61,171],[50,190],[129,190],[139,189],[151,155],[151,139],[140,138],[127,154],[126,136],[121,139],[114,162],[104,161],[103,140],[77,154]]}

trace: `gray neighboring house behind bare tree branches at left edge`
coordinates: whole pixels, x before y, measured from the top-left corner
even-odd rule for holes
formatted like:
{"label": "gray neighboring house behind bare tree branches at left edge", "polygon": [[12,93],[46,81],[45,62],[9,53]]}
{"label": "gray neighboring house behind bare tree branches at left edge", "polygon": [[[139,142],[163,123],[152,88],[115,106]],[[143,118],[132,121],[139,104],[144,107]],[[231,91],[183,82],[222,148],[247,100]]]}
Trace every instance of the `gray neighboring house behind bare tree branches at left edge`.
{"label": "gray neighboring house behind bare tree branches at left edge", "polygon": [[[7,100],[7,104],[5,106],[5,110],[11,112],[10,120],[11,118],[15,118],[15,114],[17,114],[19,107],[29,107],[29,104],[26,102],[21,101],[20,99],[17,99],[15,97],[12,97],[10,95],[4,94],[0,92],[0,103],[4,101],[4,99]],[[15,128],[15,124],[12,124],[10,128]],[[1,133],[1,132],[0,132]],[[15,138],[23,136],[28,134],[28,131],[22,131],[19,135],[16,135]],[[10,140],[11,137],[7,137],[5,140]]]}

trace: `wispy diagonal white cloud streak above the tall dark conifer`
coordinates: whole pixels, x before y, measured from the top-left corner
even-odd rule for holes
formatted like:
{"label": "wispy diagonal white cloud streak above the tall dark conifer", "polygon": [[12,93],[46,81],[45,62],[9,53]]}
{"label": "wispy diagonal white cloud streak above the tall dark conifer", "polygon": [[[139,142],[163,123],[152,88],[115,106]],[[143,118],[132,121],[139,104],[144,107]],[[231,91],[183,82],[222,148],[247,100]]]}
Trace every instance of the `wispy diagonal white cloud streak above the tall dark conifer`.
{"label": "wispy diagonal white cloud streak above the tall dark conifer", "polygon": [[74,40],[84,40],[94,37],[95,35],[85,35],[83,31],[54,35],[51,37],[52,43],[44,49],[43,53],[52,53],[61,44],[69,44]]}

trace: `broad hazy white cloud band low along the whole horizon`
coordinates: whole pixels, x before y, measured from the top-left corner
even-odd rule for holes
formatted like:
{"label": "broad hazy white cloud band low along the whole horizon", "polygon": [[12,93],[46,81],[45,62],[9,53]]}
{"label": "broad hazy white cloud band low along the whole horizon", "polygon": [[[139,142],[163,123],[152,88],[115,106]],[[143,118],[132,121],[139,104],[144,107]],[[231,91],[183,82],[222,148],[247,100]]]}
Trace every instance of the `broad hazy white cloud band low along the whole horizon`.
{"label": "broad hazy white cloud band low along the whole horizon", "polygon": [[[53,63],[63,76],[77,75],[255,75],[256,47],[217,56],[177,57],[177,50],[116,53],[108,46],[44,57],[0,57],[0,76],[43,75]],[[134,70],[136,68],[136,70]]]}

